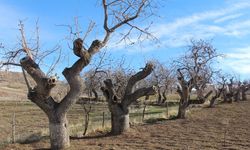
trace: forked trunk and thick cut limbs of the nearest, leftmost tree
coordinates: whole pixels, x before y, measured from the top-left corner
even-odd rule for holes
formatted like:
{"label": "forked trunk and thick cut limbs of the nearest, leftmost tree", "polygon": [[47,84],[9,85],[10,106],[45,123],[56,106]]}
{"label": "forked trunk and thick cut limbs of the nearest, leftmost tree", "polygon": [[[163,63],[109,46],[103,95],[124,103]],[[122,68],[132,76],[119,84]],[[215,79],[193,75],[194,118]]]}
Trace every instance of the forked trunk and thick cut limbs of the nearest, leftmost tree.
{"label": "forked trunk and thick cut limbs of the nearest, leftmost tree", "polygon": [[80,58],[70,68],[65,68],[63,71],[70,90],[60,102],[56,102],[51,97],[51,90],[56,86],[56,79],[47,77],[39,65],[29,56],[20,61],[22,68],[36,82],[34,88],[29,87],[28,98],[40,107],[49,118],[51,149],[65,149],[70,146],[66,113],[82,93],[83,82],[80,72],[89,64],[92,55],[102,47],[102,43],[95,40],[88,50],[83,51],[82,44],[81,39],[74,41],[74,54]]}

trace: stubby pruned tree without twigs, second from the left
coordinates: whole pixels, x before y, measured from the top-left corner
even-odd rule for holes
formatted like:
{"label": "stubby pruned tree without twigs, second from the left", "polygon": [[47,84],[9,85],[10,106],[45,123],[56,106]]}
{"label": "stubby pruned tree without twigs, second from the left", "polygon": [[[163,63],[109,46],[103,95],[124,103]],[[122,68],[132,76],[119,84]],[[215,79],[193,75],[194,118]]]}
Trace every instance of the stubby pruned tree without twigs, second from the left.
{"label": "stubby pruned tree without twigs, second from the left", "polygon": [[[147,63],[142,71],[132,75],[127,83],[124,91],[117,93],[111,79],[104,81],[104,87],[101,88],[104,96],[108,102],[108,108],[111,112],[111,133],[114,135],[121,134],[129,129],[129,106],[146,95],[153,95],[156,93],[155,88],[142,87],[133,90],[135,84],[147,77],[153,71],[153,64]],[[119,96],[118,96],[119,95]]]}

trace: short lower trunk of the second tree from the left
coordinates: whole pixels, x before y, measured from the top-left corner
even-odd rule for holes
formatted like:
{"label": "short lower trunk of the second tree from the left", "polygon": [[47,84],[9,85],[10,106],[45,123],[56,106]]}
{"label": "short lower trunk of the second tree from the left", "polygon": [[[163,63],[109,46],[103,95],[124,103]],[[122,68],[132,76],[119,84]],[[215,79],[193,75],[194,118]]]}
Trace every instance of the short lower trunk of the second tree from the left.
{"label": "short lower trunk of the second tree from the left", "polygon": [[111,133],[118,135],[129,129],[129,111],[114,105],[111,111]]}

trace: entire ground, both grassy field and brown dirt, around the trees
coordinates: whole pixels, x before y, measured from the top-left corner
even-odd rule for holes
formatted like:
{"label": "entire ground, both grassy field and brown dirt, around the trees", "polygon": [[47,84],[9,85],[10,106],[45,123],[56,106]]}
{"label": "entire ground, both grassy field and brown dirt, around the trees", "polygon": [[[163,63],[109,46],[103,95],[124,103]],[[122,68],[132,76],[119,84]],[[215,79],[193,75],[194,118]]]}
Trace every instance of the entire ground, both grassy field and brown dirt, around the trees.
{"label": "entire ground, both grassy field and brown dirt, around the trees", "polygon": [[[0,149],[48,149],[47,117],[26,100],[23,83],[9,83],[0,81]],[[90,113],[88,134],[83,136],[84,110],[75,104],[68,113],[70,149],[249,149],[249,100],[211,109],[194,107],[188,110],[186,120],[173,120],[176,110],[169,107],[167,115],[166,107],[147,106],[142,121],[143,105],[132,106],[130,131],[109,136],[110,114],[105,104],[97,103]],[[13,121],[15,144],[11,144]]]}

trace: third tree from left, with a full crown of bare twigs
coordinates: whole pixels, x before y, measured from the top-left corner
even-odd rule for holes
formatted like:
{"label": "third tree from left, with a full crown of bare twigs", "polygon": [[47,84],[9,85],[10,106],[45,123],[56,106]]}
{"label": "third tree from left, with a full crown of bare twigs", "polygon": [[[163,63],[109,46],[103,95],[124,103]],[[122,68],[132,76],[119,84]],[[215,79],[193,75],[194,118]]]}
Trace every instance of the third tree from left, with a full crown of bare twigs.
{"label": "third tree from left, with a full crown of bare twigs", "polygon": [[174,61],[179,81],[177,92],[180,95],[177,118],[185,118],[188,105],[193,103],[190,100],[192,89],[197,92],[198,103],[204,103],[212,94],[212,91],[209,91],[204,95],[204,89],[216,72],[212,68],[212,63],[219,56],[209,42],[191,40],[187,53]]}

